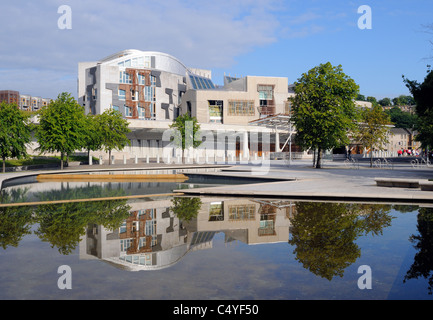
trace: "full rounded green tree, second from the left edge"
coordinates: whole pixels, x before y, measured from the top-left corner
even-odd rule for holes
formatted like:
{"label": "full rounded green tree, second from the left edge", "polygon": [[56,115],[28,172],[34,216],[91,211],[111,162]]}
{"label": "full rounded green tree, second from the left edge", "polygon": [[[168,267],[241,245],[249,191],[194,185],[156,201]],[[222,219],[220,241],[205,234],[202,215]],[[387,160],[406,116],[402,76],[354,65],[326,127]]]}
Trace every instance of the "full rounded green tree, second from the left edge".
{"label": "full rounded green tree, second from the left edge", "polygon": [[70,93],[63,92],[48,106],[38,111],[39,126],[36,130],[38,149],[44,152],[60,152],[60,168],[64,157],[84,146],[86,118]]}

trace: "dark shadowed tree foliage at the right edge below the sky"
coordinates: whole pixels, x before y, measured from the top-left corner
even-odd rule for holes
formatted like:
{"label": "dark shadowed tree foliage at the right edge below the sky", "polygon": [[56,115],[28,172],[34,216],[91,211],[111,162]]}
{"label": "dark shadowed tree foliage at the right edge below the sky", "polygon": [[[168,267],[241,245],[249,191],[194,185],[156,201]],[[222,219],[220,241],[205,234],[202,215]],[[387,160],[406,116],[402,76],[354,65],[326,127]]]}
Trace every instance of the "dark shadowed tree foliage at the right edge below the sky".
{"label": "dark shadowed tree foliage at the right edge below the sky", "polygon": [[423,83],[408,80],[403,81],[409,88],[415,100],[415,112],[418,116],[416,129],[419,134],[416,140],[421,142],[423,148],[433,147],[433,70],[429,70]]}

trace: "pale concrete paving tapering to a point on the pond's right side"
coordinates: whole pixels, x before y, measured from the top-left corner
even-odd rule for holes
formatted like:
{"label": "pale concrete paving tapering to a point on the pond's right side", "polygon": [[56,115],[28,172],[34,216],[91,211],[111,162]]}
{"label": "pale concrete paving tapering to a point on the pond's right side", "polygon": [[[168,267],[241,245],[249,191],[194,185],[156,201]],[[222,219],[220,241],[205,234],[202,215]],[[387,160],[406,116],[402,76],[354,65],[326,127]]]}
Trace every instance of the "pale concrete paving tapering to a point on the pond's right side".
{"label": "pale concrete paving tapering to a point on the pond's right side", "polygon": [[[237,175],[254,175],[254,167],[232,167]],[[433,168],[414,169],[401,164],[394,169],[370,168],[368,164],[359,169],[347,168],[343,163],[325,163],[322,169],[312,168],[309,162],[295,161],[291,166],[274,162],[266,177],[287,178],[288,181],[251,185],[230,185],[216,188],[183,190],[185,194],[242,195],[253,197],[377,200],[402,202],[431,202],[432,191],[413,188],[390,188],[376,186],[375,178],[433,179]],[[296,181],[293,181],[296,179]]]}

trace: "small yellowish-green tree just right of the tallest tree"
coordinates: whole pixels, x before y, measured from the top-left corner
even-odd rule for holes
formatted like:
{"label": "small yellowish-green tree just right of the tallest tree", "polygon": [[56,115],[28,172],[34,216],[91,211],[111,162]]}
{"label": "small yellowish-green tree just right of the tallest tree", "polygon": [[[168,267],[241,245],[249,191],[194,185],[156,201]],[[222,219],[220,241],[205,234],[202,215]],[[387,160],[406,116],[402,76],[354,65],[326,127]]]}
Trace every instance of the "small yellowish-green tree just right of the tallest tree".
{"label": "small yellowish-green tree just right of the tallest tree", "polygon": [[383,145],[388,143],[389,129],[386,125],[390,122],[389,115],[379,105],[361,111],[357,140],[363,147],[370,149],[370,167],[373,167],[373,149],[382,150]]}

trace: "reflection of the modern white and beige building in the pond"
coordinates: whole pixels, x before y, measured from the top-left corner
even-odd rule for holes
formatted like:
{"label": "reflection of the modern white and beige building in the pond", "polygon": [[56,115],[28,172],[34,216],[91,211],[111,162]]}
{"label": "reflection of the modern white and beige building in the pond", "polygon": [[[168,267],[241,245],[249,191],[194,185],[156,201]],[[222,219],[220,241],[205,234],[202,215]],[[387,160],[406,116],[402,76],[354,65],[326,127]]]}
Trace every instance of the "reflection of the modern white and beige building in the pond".
{"label": "reflection of the modern white and beige building in the pond", "polygon": [[170,200],[128,204],[131,215],[119,229],[89,226],[80,243],[81,259],[101,259],[131,271],[155,270],[172,266],[189,251],[212,248],[219,232],[225,234],[226,242],[286,242],[294,206],[291,202],[202,198],[197,218],[182,221],[170,210]]}

